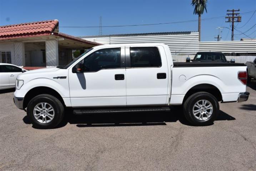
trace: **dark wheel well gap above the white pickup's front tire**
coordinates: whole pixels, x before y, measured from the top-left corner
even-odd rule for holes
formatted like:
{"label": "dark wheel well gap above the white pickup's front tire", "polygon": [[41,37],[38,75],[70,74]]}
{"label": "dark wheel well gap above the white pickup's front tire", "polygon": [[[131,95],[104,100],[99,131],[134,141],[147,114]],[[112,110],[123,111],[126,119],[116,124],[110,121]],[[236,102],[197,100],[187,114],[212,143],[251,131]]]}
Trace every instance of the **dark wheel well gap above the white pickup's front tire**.
{"label": "dark wheel well gap above the white pickup's front tire", "polygon": [[61,101],[61,103],[65,106],[65,103],[61,97],[61,95],[55,91],[54,89],[50,88],[50,87],[35,87],[31,90],[29,90],[27,92],[27,94],[24,97],[24,101],[23,101],[23,109],[25,109],[27,107],[27,104],[29,104],[29,101],[40,94],[49,94],[52,95],[54,97],[56,97],[57,99],[59,99]]}

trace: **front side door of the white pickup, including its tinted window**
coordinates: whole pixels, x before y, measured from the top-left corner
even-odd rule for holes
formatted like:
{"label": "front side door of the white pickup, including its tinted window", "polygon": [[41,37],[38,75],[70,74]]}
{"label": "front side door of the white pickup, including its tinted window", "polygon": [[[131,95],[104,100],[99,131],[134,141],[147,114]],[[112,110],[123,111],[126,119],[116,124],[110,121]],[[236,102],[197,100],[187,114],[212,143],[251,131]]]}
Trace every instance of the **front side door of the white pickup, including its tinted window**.
{"label": "front side door of the white pickup, including its tinted window", "polygon": [[[76,73],[75,67],[84,67]],[[124,47],[92,52],[69,70],[72,107],[126,106]]]}

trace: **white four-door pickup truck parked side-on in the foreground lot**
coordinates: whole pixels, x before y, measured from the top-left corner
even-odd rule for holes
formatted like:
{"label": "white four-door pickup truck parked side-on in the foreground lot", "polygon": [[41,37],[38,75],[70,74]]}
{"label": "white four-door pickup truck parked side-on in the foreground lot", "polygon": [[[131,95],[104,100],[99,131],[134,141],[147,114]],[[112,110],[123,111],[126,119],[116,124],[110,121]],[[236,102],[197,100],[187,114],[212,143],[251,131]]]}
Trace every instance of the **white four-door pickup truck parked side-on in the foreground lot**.
{"label": "white four-door pickup truck parked side-on in the foreground lot", "polygon": [[218,102],[246,101],[244,64],[173,63],[165,44],[100,45],[66,66],[20,74],[14,102],[32,124],[56,127],[66,108],[74,114],[168,111],[183,105],[193,125],[209,125]]}

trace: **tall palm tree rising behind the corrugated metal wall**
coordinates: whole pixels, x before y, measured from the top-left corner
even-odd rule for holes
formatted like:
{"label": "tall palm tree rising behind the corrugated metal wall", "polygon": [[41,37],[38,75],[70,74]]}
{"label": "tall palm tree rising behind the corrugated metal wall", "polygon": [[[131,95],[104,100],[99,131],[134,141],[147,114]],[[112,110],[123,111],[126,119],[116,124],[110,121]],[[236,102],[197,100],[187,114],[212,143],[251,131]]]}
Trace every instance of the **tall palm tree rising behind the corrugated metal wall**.
{"label": "tall palm tree rising behind the corrugated metal wall", "polygon": [[206,3],[207,3],[207,0],[192,0],[192,3],[191,3],[191,5],[195,7],[194,14],[198,15],[199,41],[201,37],[201,14],[204,13],[204,10],[207,12]]}

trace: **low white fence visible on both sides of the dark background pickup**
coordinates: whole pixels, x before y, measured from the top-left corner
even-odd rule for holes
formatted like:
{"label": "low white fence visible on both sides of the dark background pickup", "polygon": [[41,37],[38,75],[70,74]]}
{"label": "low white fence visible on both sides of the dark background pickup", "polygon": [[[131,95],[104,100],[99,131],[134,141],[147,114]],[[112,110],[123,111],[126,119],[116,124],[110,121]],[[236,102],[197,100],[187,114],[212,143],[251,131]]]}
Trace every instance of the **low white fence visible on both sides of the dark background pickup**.
{"label": "low white fence visible on both sides of the dark background pickup", "polygon": [[[172,60],[174,62],[186,62],[187,57],[193,59],[195,55],[172,55]],[[226,56],[228,61],[235,59],[236,63],[245,63],[247,61],[252,62],[254,61],[255,57],[256,56]]]}

